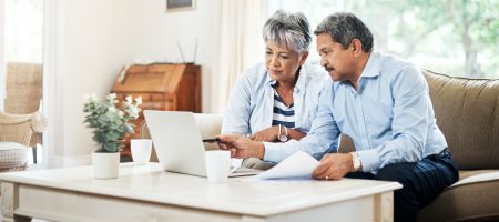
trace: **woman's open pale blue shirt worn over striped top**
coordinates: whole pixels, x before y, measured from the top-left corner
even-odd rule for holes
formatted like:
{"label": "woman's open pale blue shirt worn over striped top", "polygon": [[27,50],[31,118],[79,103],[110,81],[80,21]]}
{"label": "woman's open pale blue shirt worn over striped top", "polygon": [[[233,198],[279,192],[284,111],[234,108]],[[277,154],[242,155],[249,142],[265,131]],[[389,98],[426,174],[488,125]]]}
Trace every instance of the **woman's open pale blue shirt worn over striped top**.
{"label": "woman's open pale blue shirt worn over striped top", "polygon": [[[318,98],[328,75],[319,65],[304,63],[293,90],[295,129],[308,133],[317,113]],[[244,71],[226,105],[222,133],[254,134],[272,127],[274,88],[264,63]]]}

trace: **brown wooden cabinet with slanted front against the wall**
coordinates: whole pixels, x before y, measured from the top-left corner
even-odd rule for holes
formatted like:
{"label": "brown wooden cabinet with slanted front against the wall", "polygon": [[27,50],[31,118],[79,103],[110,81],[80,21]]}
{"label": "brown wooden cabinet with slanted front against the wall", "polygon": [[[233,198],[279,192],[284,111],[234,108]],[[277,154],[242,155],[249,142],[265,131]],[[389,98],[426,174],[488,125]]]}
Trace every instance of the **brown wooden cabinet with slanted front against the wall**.
{"label": "brown wooden cabinet with slanted front against the wall", "polygon": [[[142,110],[201,112],[201,68],[194,64],[135,64],[113,85],[119,100],[142,97]],[[126,138],[122,155],[131,155],[130,139],[141,138],[144,115],[134,121],[135,133]]]}

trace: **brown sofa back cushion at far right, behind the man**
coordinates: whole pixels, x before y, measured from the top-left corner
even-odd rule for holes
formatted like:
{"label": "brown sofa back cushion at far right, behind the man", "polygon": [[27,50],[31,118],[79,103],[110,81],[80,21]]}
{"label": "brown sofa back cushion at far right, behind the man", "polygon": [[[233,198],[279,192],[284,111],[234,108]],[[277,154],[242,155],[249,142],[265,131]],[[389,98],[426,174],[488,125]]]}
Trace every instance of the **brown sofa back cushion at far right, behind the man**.
{"label": "brown sofa back cushion at far right, behind the man", "polygon": [[459,169],[499,169],[499,80],[424,74],[437,124]]}

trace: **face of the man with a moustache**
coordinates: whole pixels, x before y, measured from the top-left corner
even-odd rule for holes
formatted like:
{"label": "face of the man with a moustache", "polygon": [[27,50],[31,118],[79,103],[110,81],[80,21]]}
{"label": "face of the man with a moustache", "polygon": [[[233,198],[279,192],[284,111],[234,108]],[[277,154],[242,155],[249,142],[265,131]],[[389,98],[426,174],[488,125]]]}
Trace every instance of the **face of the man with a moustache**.
{"label": "face of the man with a moustache", "polygon": [[344,81],[354,78],[355,63],[352,43],[347,49],[333,41],[328,33],[317,36],[317,51],[320,56],[320,65],[329,72],[333,81]]}

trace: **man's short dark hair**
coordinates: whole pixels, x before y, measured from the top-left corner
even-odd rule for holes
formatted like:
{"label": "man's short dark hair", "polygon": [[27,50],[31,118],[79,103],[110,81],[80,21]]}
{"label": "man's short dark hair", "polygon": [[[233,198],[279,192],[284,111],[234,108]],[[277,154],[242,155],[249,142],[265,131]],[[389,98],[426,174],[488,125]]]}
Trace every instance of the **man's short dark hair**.
{"label": "man's short dark hair", "polygon": [[363,43],[363,51],[373,51],[373,33],[369,28],[355,14],[338,12],[326,17],[315,29],[314,34],[330,34],[330,38],[348,48],[352,40],[358,39]]}

